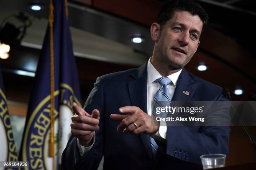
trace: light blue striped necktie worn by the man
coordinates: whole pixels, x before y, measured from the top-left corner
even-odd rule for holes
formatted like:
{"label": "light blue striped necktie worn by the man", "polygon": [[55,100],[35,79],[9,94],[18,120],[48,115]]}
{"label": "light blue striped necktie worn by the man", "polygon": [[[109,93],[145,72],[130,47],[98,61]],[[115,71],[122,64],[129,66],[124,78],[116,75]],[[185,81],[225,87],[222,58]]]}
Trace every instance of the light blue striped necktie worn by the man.
{"label": "light blue striped necktie worn by the man", "polygon": [[[155,110],[156,107],[165,107],[165,105],[162,105],[161,101],[165,103],[171,103],[172,97],[171,94],[167,88],[167,85],[172,83],[172,80],[170,80],[168,77],[160,77],[157,79],[159,84],[161,85],[161,88],[156,92],[156,95],[154,97],[154,102],[153,102],[153,109],[152,109],[152,114],[157,117],[167,117],[166,113],[161,113],[160,115],[156,115]],[[151,148],[152,148],[152,154],[153,158],[156,157],[156,152],[158,149],[158,145],[156,144],[155,140],[153,138],[150,138],[151,141]]]}

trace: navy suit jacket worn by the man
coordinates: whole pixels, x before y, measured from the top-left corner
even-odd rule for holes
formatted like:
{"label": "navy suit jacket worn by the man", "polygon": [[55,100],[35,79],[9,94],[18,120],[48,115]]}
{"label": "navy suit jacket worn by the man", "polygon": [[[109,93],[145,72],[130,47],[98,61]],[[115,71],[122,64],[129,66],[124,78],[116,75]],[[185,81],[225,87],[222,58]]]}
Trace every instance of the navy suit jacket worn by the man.
{"label": "navy suit jacket worn by the man", "polygon": [[[189,95],[182,93],[189,91]],[[179,75],[172,100],[227,100],[222,88],[206,82],[184,68]],[[62,154],[62,169],[97,170],[102,155],[104,169],[198,169],[200,155],[228,155],[229,127],[224,126],[167,126],[167,141],[159,143],[156,158],[152,158],[148,135],[129,135],[117,131],[119,122],[110,119],[123,106],[138,106],[147,112],[147,65],[98,77],[84,110],[100,111],[100,130],[90,151],[80,156],[77,138],[71,137]]]}

